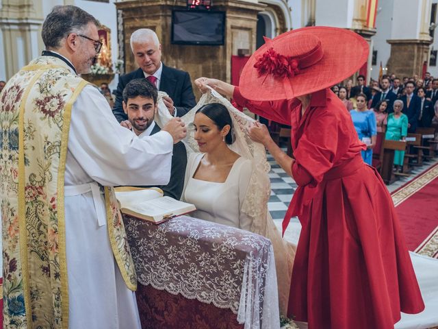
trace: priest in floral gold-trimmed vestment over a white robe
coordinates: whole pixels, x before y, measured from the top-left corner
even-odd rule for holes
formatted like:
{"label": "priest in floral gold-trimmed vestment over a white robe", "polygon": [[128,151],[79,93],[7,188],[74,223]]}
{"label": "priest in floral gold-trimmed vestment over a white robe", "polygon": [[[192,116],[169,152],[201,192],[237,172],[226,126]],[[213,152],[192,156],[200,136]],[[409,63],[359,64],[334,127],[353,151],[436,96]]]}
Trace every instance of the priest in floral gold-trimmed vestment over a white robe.
{"label": "priest in floral gold-trimmed vestment over a white robe", "polygon": [[139,328],[136,273],[115,185],[167,184],[181,119],[138,138],[89,73],[99,22],[57,6],[42,56],[0,96],[3,328]]}

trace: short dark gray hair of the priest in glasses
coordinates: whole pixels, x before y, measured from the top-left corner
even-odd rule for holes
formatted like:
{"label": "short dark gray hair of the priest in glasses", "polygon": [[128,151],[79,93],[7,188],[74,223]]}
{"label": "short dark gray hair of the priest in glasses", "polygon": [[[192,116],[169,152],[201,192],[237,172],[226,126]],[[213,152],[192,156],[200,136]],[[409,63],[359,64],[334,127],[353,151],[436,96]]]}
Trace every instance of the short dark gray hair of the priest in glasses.
{"label": "short dark gray hair of the priest in glasses", "polygon": [[83,33],[87,25],[101,24],[91,14],[75,5],[56,5],[42,24],[42,41],[46,49],[58,49],[70,33]]}

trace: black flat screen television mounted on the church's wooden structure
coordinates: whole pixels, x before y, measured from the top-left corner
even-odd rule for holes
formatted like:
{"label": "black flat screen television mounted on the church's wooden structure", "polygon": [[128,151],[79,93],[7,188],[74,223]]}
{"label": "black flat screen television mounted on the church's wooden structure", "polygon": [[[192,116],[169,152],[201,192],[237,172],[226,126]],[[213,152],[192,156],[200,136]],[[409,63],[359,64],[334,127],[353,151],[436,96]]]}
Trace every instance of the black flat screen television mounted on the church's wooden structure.
{"label": "black flat screen television mounted on the church's wooden structure", "polygon": [[224,45],[225,12],[173,10],[172,44]]}

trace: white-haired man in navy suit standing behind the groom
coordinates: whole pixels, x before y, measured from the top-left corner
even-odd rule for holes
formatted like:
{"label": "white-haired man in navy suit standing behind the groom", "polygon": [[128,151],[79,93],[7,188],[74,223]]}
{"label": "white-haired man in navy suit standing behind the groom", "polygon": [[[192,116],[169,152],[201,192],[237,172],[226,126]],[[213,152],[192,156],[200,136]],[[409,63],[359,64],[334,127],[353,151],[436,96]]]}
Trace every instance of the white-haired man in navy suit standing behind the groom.
{"label": "white-haired man in navy suit standing behind the groom", "polygon": [[116,103],[113,113],[118,122],[127,121],[123,112],[122,93],[127,83],[133,79],[146,77],[155,84],[158,90],[166,92],[164,103],[170,114],[182,117],[194,108],[194,98],[190,75],[185,71],[172,69],[164,65],[162,59],[162,45],[157,34],[151,29],[138,29],[131,35],[131,49],[139,69],[120,76],[116,90]]}

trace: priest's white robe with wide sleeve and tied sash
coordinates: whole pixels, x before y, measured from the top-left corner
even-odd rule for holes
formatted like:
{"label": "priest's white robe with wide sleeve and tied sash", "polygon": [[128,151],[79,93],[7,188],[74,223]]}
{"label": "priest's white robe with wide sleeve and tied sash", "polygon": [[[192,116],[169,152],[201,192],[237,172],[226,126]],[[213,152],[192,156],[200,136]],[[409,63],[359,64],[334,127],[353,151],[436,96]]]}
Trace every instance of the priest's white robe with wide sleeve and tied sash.
{"label": "priest's white robe with wide sleeve and tied sash", "polygon": [[140,328],[135,294],[112,254],[105,200],[96,182],[165,185],[172,147],[168,132],[138,138],[121,127],[93,86],[74,103],[65,172],[68,328]]}

